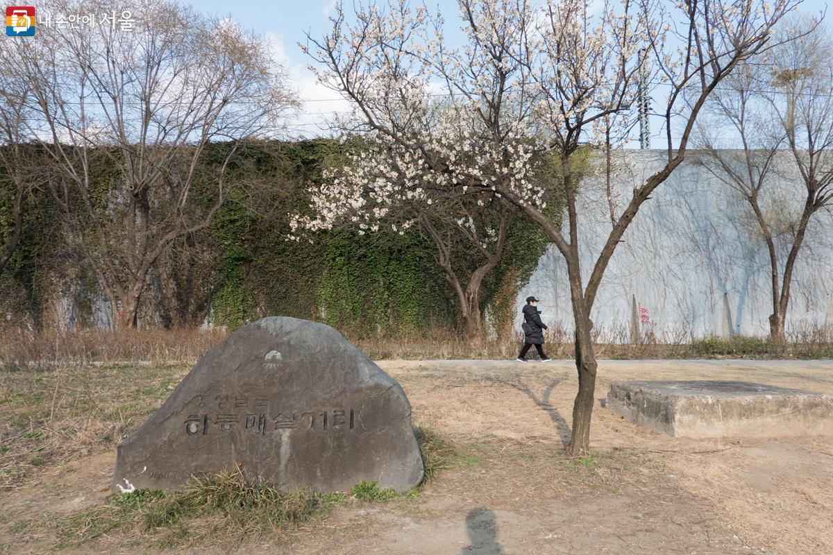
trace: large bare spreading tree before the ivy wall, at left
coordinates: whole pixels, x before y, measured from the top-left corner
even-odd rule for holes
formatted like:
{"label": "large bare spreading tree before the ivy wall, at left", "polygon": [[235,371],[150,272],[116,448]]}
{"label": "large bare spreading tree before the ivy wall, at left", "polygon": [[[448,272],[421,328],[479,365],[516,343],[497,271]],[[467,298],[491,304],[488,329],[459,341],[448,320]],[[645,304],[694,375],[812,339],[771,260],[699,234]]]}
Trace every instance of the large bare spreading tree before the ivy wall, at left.
{"label": "large bare spreading tree before the ivy wall, at left", "polygon": [[137,325],[148,270],[222,206],[242,142],[274,136],[295,101],[267,44],[236,23],[167,0],[120,7],[132,28],[44,26],[37,41],[14,43],[38,115],[28,131],[61,171],[55,199],[126,328]]}

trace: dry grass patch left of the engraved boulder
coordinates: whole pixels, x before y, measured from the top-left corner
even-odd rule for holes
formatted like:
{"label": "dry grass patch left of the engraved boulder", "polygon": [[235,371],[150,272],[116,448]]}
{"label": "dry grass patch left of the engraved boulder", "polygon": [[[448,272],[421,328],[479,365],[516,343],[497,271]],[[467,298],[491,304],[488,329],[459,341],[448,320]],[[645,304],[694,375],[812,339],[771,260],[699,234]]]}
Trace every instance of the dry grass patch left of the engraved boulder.
{"label": "dry grass patch left of the engraved boulder", "polygon": [[0,489],[112,448],[156,410],[185,366],[57,366],[0,372]]}

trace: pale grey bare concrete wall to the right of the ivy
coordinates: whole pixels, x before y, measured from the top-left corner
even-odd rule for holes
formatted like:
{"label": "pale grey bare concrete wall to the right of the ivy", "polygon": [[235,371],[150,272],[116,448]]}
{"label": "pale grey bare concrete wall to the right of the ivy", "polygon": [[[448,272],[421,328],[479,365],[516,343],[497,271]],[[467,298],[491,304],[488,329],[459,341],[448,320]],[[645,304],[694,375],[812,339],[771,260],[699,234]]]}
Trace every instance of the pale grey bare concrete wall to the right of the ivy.
{"label": "pale grey bare concrete wall to the right of the ivy", "polygon": [[[797,221],[804,186],[795,163],[782,153],[777,176],[763,199],[770,215]],[[621,206],[633,186],[661,168],[665,151],[626,151],[632,170],[616,180]],[[770,263],[766,243],[741,196],[694,159],[693,152],[642,206],[616,249],[602,281],[591,319],[603,339],[630,341],[635,320],[640,334],[675,341],[710,334],[766,335],[771,314]],[[581,270],[586,280],[611,230],[601,176],[581,183],[579,195]],[[566,218],[565,218],[566,220]],[[791,230],[778,238],[781,264]],[[816,214],[796,261],[787,329],[833,325],[833,216]],[[572,330],[566,265],[551,245],[516,300],[536,295],[546,323]]]}

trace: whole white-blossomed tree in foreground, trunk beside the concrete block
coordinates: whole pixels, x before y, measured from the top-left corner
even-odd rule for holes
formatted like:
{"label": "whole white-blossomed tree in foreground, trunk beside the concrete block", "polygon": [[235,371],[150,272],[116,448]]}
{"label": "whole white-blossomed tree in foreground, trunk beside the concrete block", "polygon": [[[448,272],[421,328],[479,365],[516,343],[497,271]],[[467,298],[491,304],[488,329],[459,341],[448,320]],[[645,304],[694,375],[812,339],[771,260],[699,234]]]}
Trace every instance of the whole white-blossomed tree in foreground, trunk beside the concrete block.
{"label": "whole white-blossomed tree in foreground, trunk beside the concrete block", "polygon": [[[307,52],[322,66],[321,81],[352,101],[352,116],[338,125],[377,150],[351,179],[327,184],[313,221],[341,217],[341,199],[372,214],[410,192],[429,212],[446,198],[485,193],[541,225],[566,260],[579,378],[567,452],[584,453],[597,369],[590,316],[616,245],[683,161],[707,97],[738,64],[771,47],[772,27],[799,2],[609,0],[596,11],[588,0],[544,0],[540,8],[526,0],[459,0],[466,37],[459,48],[446,44],[441,17],[425,7],[359,6],[353,26],[339,7],[332,32]],[[661,82],[666,164],[614,206],[606,243],[585,269],[574,155],[627,126],[641,74]],[[437,95],[444,102],[432,102]],[[544,153],[560,165],[554,186],[535,179]],[[382,166],[396,180],[377,181],[372,170]],[[401,192],[371,195],[388,186]],[[553,196],[565,201],[563,229],[546,211]]]}

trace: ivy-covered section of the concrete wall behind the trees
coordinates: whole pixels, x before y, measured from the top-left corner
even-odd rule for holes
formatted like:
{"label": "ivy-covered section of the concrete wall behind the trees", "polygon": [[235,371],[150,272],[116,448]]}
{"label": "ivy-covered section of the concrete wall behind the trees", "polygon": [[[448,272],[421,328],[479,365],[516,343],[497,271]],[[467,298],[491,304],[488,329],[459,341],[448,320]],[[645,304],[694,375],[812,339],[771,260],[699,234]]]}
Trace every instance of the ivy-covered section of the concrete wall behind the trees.
{"label": "ivy-covered section of the concrete wall behind the trees", "polygon": [[[212,149],[207,149],[210,161]],[[266,315],[320,320],[354,337],[425,334],[459,325],[453,291],[417,230],[405,235],[358,235],[352,230],[286,240],[287,215],[307,206],[307,187],[337,162],[343,145],[331,140],[270,142],[247,149],[231,168],[227,201],[210,229],[179,240],[154,266],[142,295],[139,327],[226,326]],[[102,168],[102,192],[117,176]],[[212,202],[210,182],[192,202]],[[0,233],[9,230],[11,192],[0,179]],[[108,328],[112,314],[95,275],[48,195],[27,202],[24,237],[0,275],[0,314],[6,325],[33,329]],[[536,225],[519,218],[505,260],[481,295],[492,334],[511,332],[514,300],[546,250]],[[456,253],[466,265],[466,252]]]}

